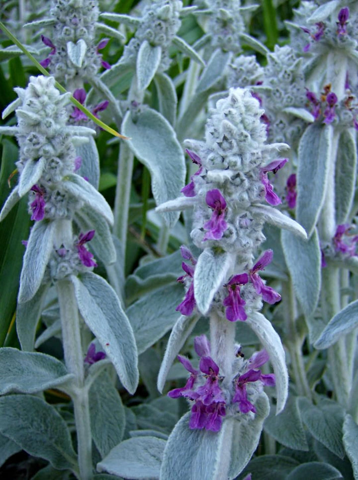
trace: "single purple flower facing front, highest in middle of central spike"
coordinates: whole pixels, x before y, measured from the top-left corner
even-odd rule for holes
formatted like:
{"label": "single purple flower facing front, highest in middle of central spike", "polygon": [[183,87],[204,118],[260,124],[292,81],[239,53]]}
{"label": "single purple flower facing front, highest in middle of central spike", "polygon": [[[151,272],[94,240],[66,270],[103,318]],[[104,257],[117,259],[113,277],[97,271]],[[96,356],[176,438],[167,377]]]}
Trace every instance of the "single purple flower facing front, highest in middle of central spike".
{"label": "single purple flower facing front, highest in middle of central spike", "polygon": [[214,189],[206,193],[205,201],[214,211],[210,220],[204,223],[204,228],[208,231],[205,233],[203,240],[220,240],[227,229],[225,198],[218,189]]}

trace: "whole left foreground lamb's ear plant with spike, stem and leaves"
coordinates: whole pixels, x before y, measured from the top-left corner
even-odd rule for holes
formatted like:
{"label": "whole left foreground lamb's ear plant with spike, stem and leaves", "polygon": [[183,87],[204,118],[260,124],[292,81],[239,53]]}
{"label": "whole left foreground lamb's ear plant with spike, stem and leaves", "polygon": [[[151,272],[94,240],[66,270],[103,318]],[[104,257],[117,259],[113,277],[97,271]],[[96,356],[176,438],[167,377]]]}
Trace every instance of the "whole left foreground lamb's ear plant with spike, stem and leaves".
{"label": "whole left foreground lamb's ear plant with spike, stem and leaves", "polygon": [[[60,95],[54,79],[42,76],[30,77],[28,87],[16,89],[16,93],[20,99],[15,110],[17,125],[3,130],[15,135],[19,144],[19,181],[0,218],[27,195],[35,223],[24,241],[18,292],[16,328],[23,351],[0,350],[1,393],[15,393],[1,398],[1,434],[30,454],[48,460],[54,468],[70,469],[78,478],[89,479],[93,475],[91,387],[100,379],[104,397],[108,394],[111,382],[106,382],[102,373],[108,360],[130,393],[138,384],[131,325],[114,290],[92,272],[97,264],[85,246],[96,236],[96,257],[104,263],[115,261],[109,231],[113,214],[88,179],[76,173],[86,161],[76,156],[76,146],[88,142],[95,132],[68,125],[70,94]],[[65,365],[33,352],[49,289],[58,297]],[[91,343],[91,332],[98,340],[97,348]],[[93,370],[96,362],[102,365]],[[56,409],[41,396],[26,395],[51,387],[72,399],[77,455],[67,425]],[[112,420],[123,422],[120,416]],[[121,440],[119,432],[114,428],[115,443]],[[94,436],[93,440],[101,451],[98,438]]]}

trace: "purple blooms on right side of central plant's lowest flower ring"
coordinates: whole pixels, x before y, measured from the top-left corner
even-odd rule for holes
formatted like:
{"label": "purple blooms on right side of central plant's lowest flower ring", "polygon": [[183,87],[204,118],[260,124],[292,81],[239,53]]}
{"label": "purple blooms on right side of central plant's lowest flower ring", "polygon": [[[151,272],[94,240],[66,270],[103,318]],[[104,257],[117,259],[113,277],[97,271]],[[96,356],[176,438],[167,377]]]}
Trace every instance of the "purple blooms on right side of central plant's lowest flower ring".
{"label": "purple blooms on right side of central plant's lowest flower ring", "polygon": [[269,354],[266,350],[254,353],[249,360],[250,370],[235,379],[235,395],[232,399],[233,403],[238,403],[241,413],[256,412],[255,405],[251,403],[247,397],[246,386],[249,382],[260,381],[264,385],[273,386],[275,377],[273,374],[263,375],[261,370],[256,370],[269,360]]}

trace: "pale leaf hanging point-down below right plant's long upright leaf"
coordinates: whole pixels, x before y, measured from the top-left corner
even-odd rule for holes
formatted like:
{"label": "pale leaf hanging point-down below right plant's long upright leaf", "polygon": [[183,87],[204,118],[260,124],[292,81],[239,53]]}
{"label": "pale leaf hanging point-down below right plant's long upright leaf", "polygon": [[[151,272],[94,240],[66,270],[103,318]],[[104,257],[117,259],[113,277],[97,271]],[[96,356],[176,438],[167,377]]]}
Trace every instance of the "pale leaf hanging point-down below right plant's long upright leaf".
{"label": "pale leaf hanging point-down below right plant's long upright leaf", "polygon": [[282,230],[281,243],[295,294],[303,313],[310,316],[321,291],[321,249],[317,230],[314,229],[307,241]]}

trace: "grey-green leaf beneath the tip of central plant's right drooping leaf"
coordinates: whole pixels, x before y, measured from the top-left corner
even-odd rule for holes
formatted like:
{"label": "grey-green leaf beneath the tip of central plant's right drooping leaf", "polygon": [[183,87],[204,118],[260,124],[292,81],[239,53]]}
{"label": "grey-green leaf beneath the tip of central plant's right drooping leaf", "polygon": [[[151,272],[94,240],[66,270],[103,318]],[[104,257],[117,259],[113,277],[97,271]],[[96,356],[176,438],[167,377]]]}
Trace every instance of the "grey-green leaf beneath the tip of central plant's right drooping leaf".
{"label": "grey-green leaf beneath the tip of central plant's right drooping leaf", "polygon": [[297,397],[290,395],[286,406],[279,415],[270,412],[264,429],[277,442],[293,450],[308,451],[305,430],[303,428]]}

